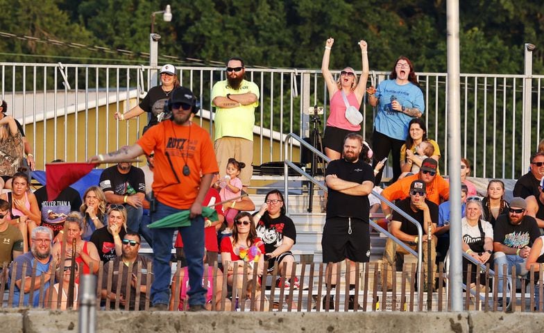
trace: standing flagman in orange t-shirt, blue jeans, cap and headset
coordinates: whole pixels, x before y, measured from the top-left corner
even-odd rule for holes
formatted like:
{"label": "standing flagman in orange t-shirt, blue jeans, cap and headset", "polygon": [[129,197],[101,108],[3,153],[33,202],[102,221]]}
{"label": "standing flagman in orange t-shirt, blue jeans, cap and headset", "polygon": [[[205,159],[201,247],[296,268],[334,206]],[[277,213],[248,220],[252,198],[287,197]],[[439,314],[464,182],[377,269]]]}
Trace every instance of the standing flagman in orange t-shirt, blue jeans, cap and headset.
{"label": "standing flagman in orange t-shirt, blue jeans, cap and headset", "polygon": [[[219,172],[210,135],[190,121],[198,112],[191,90],[178,87],[171,93],[167,111],[171,118],[149,128],[133,146],[106,155],[91,157],[89,162],[119,162],[155,152],[151,220],[189,210],[191,225],[178,228],[185,244],[189,266],[189,311],[204,310],[206,289],[201,281],[204,273],[204,219],[202,203],[214,173]],[[169,112],[167,112],[169,113]],[[202,178],[200,173],[203,174]],[[154,208],[154,209],[153,209]],[[153,275],[151,298],[155,310],[168,309],[170,298],[170,258],[173,232],[176,228],[153,230]]]}

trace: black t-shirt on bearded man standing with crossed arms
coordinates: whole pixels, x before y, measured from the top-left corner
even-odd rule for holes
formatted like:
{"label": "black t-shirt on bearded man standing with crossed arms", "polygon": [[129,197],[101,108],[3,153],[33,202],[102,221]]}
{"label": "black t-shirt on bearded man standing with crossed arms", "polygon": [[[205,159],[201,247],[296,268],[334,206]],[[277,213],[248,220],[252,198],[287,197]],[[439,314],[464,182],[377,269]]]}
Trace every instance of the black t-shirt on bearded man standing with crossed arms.
{"label": "black t-shirt on bearded man standing with crossed arms", "polygon": [[[357,182],[374,182],[374,172],[370,165],[362,160],[355,163],[347,162],[343,158],[331,161],[325,171],[325,176],[337,175],[342,180]],[[327,218],[334,216],[356,217],[368,223],[370,203],[368,196],[351,196],[334,189],[328,189]]]}

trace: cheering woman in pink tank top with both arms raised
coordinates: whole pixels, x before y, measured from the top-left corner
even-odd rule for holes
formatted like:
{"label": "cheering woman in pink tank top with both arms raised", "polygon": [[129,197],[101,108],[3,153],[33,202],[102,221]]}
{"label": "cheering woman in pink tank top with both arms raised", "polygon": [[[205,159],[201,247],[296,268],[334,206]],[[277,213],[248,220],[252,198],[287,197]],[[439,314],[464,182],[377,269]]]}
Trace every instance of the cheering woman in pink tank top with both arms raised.
{"label": "cheering woman in pink tank top with both arms raised", "polygon": [[364,40],[359,41],[362,58],[362,74],[359,80],[357,80],[355,70],[351,67],[342,69],[339,78],[334,80],[334,76],[329,70],[330,52],[333,44],[334,38],[332,37],[325,42],[325,51],[321,62],[321,73],[327,84],[330,99],[330,114],[323,137],[323,146],[327,157],[331,160],[338,160],[343,151],[344,137],[349,133],[359,133],[361,130],[358,123],[351,123],[346,118],[346,109],[348,108],[346,103],[357,110],[361,107],[366,81],[368,80],[368,52],[366,51],[366,42]]}

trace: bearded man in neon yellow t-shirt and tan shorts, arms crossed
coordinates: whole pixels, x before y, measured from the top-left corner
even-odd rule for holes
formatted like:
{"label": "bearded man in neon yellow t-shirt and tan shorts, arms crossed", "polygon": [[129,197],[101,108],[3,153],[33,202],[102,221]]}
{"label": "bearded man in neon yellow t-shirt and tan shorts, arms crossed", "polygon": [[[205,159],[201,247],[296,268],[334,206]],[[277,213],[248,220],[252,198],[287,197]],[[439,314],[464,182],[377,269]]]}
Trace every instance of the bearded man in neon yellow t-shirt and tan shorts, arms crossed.
{"label": "bearded man in neon yellow t-shirt and tan shorts, arms crossed", "polygon": [[255,108],[259,106],[259,87],[244,79],[246,67],[241,58],[230,58],[226,68],[227,79],[212,89],[215,106],[214,150],[221,178],[225,176],[228,159],[244,162],[239,178],[247,188],[253,173],[253,126]]}

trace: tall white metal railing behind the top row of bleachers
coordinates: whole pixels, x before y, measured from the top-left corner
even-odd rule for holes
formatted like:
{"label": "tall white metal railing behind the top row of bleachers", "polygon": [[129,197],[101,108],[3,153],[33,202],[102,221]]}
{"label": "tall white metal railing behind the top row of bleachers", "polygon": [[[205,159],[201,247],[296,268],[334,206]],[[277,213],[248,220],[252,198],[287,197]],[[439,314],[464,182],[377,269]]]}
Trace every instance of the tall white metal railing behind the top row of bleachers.
{"label": "tall white metal railing behind the top row of bleachers", "polygon": [[[0,62],[0,94],[8,102],[8,113],[14,114],[25,127],[31,127],[27,136],[32,137],[31,144],[39,166],[53,158],[83,160],[105,151],[106,147],[135,142],[138,129],[146,119],[119,123],[112,114],[126,112],[139,103],[150,85],[155,85],[151,83],[151,73],[156,70],[157,67],[144,65]],[[372,71],[371,82],[376,85],[388,74]],[[328,109],[328,92],[321,71],[248,68],[246,76],[260,87],[254,130],[260,154],[255,156],[254,164],[284,160],[284,135],[309,136],[308,107],[324,105]],[[213,109],[210,94],[214,83],[225,78],[224,68],[179,67],[178,78],[200,99],[203,112],[198,121],[213,135],[213,123],[207,122],[207,119],[213,121],[214,118],[214,113],[210,112]],[[448,155],[445,79],[446,74],[441,73],[418,74],[425,97],[427,134],[441,147],[443,171],[448,170],[445,158]],[[524,75],[461,74],[461,152],[473,163],[472,176],[518,178],[525,173],[519,159],[522,147],[516,138],[522,135],[526,80]],[[543,137],[544,76],[532,75],[530,80],[532,89],[529,96],[533,101],[532,119],[535,119],[531,151],[536,151],[538,141]],[[127,100],[130,103],[123,103]],[[369,141],[375,109],[364,103],[362,112],[366,115],[362,135]],[[51,123],[40,130],[36,123],[44,118]],[[323,124],[326,118],[327,112],[322,116]],[[101,137],[110,129],[118,135]],[[269,137],[275,139],[268,140]],[[279,142],[279,148],[274,142]]]}

